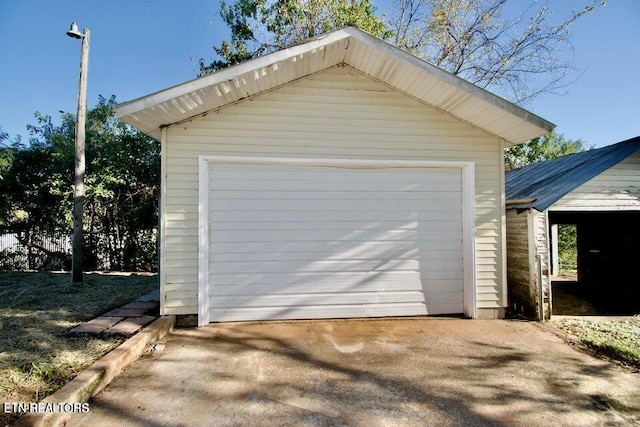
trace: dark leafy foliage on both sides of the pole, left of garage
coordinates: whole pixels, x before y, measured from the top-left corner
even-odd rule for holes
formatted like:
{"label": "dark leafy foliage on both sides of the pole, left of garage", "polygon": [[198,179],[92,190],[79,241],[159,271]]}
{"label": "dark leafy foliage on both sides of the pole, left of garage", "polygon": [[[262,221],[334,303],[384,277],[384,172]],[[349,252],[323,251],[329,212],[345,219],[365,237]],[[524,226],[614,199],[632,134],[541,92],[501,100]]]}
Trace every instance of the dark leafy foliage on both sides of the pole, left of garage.
{"label": "dark leafy foliage on both sides of the pole, left of garage", "polygon": [[[156,268],[160,147],[120,122],[115,105],[115,97],[100,97],[87,113],[85,268],[149,270]],[[29,248],[38,235],[72,229],[75,116],[63,113],[60,125],[35,117],[29,144],[5,148],[11,162],[0,169],[2,231],[18,233]]]}

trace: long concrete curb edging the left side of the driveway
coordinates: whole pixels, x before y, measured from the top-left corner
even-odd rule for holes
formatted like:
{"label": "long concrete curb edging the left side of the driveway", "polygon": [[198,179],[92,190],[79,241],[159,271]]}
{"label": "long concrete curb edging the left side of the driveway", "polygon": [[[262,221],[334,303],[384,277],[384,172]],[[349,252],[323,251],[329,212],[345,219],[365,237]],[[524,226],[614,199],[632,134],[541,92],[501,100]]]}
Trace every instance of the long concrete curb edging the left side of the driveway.
{"label": "long concrete curb edging the left side of the driveway", "polygon": [[[55,393],[44,398],[41,403],[84,403],[113,381],[122,370],[137,360],[144,349],[162,339],[175,327],[175,316],[164,316],[132,336],[107,353],[93,365],[80,372]],[[16,426],[58,426],[64,425],[66,413],[28,413],[14,424]]]}

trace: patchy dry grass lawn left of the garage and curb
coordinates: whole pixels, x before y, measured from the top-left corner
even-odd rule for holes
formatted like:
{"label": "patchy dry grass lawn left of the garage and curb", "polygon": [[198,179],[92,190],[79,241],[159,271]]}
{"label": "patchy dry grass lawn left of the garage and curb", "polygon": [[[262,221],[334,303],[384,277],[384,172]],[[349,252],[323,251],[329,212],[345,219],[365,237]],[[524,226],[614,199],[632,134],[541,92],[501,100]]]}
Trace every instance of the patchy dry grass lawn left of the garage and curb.
{"label": "patchy dry grass lawn left of the garage and curb", "polygon": [[35,402],[71,380],[123,339],[67,331],[156,286],[152,275],[89,274],[73,285],[69,274],[0,273],[0,400]]}

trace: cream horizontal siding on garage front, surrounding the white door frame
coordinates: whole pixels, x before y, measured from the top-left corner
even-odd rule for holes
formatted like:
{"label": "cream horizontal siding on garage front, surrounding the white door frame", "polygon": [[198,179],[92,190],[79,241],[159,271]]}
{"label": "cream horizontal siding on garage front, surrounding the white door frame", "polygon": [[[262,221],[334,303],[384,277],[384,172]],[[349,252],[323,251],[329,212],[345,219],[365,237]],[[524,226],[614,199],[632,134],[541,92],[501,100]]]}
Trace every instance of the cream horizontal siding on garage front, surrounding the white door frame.
{"label": "cream horizontal siding on garage front, surrounding the white door frame", "polygon": [[505,306],[500,141],[340,66],[167,129],[166,314],[197,312],[200,155],[473,161],[477,306]]}

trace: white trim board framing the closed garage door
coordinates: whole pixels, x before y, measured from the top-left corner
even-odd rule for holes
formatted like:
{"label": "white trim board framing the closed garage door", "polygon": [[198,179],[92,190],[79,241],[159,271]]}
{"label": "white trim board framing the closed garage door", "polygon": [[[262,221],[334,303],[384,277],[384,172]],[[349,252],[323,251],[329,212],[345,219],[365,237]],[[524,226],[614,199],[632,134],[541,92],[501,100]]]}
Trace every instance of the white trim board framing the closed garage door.
{"label": "white trim board framing the closed garage door", "polygon": [[327,168],[459,168],[462,174],[462,230],[464,269],[464,311],[475,318],[476,309],[476,260],[475,260],[475,172],[473,162],[460,161],[412,161],[365,160],[327,158],[281,157],[199,157],[199,214],[198,214],[198,325],[209,323],[209,166],[211,164],[252,164],[281,166],[315,166]]}

